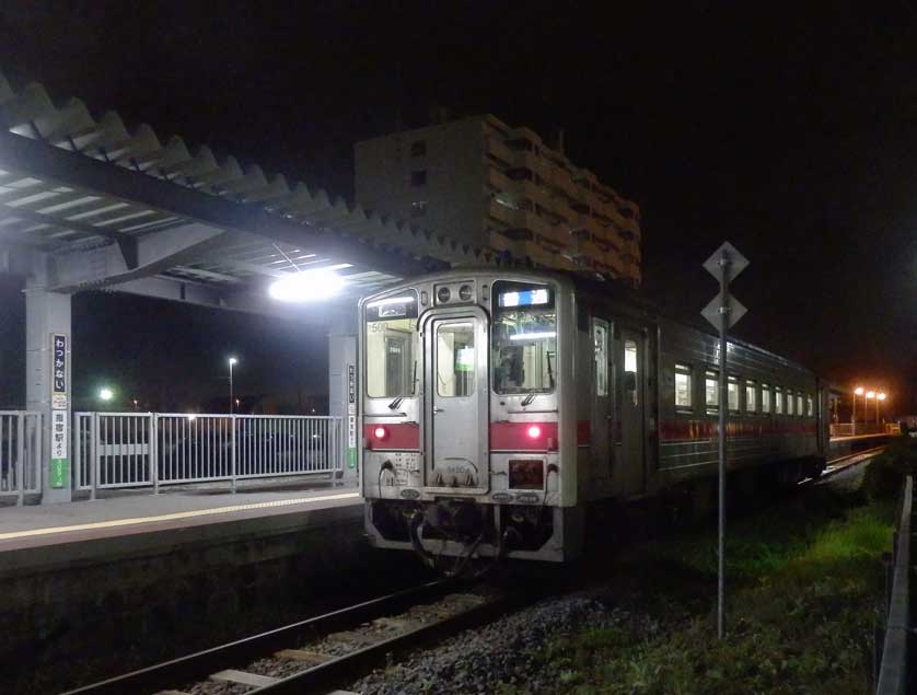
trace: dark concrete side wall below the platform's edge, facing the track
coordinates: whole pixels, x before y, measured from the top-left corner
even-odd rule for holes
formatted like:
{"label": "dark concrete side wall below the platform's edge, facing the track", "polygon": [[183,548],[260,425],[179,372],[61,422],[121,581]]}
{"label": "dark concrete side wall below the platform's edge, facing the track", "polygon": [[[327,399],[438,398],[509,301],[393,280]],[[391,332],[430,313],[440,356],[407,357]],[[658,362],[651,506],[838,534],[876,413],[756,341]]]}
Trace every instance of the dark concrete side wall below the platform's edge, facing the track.
{"label": "dark concrete side wall below the platform's edge, facing the track", "polygon": [[348,505],[2,553],[0,691],[56,692],[358,592],[378,561],[361,514]]}

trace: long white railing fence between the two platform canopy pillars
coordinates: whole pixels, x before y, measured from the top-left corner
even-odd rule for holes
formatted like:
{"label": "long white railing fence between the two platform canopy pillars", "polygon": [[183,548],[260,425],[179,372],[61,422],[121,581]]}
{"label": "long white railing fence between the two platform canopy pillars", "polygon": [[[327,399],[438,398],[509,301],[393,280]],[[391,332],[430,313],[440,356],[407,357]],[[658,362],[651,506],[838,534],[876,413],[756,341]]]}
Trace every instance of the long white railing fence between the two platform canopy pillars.
{"label": "long white railing fence between the two platform canopy pillars", "polygon": [[77,489],[152,487],[343,471],[339,417],[74,413]]}

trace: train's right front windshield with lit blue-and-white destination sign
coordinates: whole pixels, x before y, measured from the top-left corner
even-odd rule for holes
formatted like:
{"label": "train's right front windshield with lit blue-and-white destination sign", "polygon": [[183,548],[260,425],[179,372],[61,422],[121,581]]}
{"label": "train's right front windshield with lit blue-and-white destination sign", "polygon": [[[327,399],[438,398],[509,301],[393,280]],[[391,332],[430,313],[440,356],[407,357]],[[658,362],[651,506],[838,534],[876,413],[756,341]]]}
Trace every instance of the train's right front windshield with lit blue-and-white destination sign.
{"label": "train's right front windshield with lit blue-and-white destination sign", "polygon": [[557,379],[557,309],[554,289],[495,282],[491,360],[501,394],[549,393]]}

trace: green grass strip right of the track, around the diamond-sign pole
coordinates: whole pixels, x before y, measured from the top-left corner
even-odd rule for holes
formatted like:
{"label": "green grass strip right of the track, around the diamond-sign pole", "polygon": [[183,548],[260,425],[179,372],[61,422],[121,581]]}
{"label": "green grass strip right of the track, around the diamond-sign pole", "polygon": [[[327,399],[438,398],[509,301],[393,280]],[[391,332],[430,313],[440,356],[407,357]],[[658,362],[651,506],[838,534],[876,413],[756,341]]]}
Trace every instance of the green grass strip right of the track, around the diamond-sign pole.
{"label": "green grass strip right of the track, around the diamond-sign pole", "polygon": [[868,692],[894,500],[810,491],[730,525],[724,640],[716,638],[711,612],[716,532],[659,543],[629,560],[640,575],[634,603],[649,610],[649,622],[585,630],[547,646],[541,657],[556,686],[545,692]]}

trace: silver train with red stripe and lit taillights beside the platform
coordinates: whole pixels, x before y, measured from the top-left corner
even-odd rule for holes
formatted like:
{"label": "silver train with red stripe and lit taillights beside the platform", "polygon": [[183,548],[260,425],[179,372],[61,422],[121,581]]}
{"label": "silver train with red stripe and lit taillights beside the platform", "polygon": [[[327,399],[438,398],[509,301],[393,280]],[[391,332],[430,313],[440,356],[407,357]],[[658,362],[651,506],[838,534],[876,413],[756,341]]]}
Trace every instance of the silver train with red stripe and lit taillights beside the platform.
{"label": "silver train with red stripe and lit taillights beside the platform", "polygon": [[[430,565],[581,556],[592,509],[710,497],[719,338],[616,281],[452,269],[359,302],[360,489],[380,548]],[[828,384],[728,343],[732,478],[817,476]]]}

